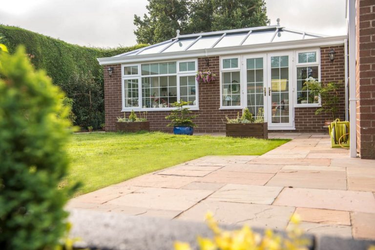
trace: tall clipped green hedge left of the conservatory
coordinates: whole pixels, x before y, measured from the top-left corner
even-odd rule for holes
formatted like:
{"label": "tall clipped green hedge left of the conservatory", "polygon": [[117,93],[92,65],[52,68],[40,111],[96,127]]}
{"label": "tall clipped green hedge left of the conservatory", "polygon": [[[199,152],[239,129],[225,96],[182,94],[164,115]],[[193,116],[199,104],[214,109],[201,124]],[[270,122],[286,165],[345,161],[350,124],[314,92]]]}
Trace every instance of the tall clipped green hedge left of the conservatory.
{"label": "tall clipped green hedge left of the conservatory", "polygon": [[[146,46],[93,48],[69,44],[19,27],[0,25],[2,43],[12,54],[23,44],[31,62],[44,69],[55,85],[74,100],[76,125],[99,128],[104,123],[103,67],[96,58],[112,57]],[[89,102],[95,99],[95,103]]]}

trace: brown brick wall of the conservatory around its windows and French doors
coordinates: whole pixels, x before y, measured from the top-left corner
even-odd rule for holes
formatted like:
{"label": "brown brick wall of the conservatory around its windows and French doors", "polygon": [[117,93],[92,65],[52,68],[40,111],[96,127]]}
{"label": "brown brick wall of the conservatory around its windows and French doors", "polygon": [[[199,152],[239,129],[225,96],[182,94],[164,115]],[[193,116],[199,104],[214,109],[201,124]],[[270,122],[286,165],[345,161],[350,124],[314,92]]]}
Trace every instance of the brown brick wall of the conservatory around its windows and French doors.
{"label": "brown brick wall of the conservatory around its windows and French doors", "polygon": [[[333,48],[336,52],[333,62],[330,61],[328,52]],[[210,83],[198,83],[199,110],[193,111],[199,115],[194,122],[198,125],[194,129],[197,133],[224,133],[226,116],[234,117],[240,109],[219,110],[220,108],[220,59],[218,56],[209,57],[208,65],[206,58],[198,58],[198,69],[210,70],[216,74],[216,79]],[[107,67],[113,67],[112,77],[108,76]],[[118,116],[123,116],[121,103],[121,65],[107,65],[104,69],[104,107],[105,107],[105,130],[115,131],[115,122]],[[342,81],[342,88],[339,90],[340,119],[344,119],[344,46],[333,46],[321,48],[321,80],[323,82]],[[295,108],[295,128],[286,132],[324,132],[323,124],[326,119],[330,120],[329,114],[314,115],[317,108]],[[147,119],[150,121],[150,130],[172,132],[167,127],[169,121],[165,119],[169,111],[149,111]],[[125,112],[128,116],[129,112]]]}

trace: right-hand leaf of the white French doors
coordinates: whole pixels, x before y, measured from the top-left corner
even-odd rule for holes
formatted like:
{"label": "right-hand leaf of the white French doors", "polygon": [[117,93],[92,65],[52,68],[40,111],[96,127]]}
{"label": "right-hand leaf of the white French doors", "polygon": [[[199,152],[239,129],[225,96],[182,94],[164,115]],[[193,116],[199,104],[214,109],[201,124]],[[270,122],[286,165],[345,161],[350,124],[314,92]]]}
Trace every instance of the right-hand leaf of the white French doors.
{"label": "right-hand leaf of the white French doors", "polygon": [[293,128],[292,52],[267,55],[267,107],[269,129]]}

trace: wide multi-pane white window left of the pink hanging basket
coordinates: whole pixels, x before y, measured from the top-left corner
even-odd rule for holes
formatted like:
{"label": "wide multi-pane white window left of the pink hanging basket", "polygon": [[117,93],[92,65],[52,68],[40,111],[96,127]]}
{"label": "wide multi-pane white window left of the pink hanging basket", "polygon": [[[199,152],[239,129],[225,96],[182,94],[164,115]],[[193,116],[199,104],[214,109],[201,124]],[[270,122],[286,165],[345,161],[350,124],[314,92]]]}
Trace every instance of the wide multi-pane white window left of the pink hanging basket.
{"label": "wide multi-pane white window left of the pink hanging basket", "polygon": [[198,109],[197,59],[122,65],[123,110],[171,110],[180,99]]}

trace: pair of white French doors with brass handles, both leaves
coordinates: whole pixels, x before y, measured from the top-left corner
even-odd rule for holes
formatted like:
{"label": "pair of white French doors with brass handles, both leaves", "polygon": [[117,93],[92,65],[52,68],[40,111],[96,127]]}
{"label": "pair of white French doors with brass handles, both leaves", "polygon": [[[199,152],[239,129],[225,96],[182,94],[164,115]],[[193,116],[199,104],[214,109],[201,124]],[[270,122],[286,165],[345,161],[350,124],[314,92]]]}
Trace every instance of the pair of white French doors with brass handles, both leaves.
{"label": "pair of white French doors with brass handles, both leaves", "polygon": [[293,129],[292,52],[243,57],[243,107],[254,118],[264,109],[269,129]]}

